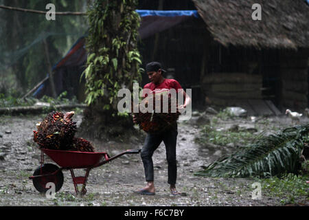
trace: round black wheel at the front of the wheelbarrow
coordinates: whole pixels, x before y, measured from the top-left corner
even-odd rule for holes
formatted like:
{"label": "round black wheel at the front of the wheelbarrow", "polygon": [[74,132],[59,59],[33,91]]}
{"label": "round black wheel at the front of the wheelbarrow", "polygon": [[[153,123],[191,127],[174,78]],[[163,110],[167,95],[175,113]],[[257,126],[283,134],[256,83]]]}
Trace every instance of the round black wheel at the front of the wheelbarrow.
{"label": "round black wheel at the front of the wheelbarrow", "polygon": [[[43,166],[38,166],[36,170],[34,170],[34,177],[37,175],[47,175],[54,173],[58,170],[58,166],[55,164],[43,164]],[[55,175],[48,175],[46,177],[35,177],[32,179],[33,185],[38,190],[38,192],[45,193],[49,190],[50,187],[46,187],[47,183],[52,182],[55,184],[55,192],[58,192],[63,185],[63,173],[59,170]]]}

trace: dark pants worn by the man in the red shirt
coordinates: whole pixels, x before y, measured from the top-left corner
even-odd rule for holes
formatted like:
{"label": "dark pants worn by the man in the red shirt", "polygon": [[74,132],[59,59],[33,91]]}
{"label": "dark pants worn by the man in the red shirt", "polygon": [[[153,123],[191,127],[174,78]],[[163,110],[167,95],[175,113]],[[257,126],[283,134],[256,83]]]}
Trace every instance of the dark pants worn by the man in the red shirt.
{"label": "dark pants worn by the man in the red shirt", "polygon": [[159,134],[150,134],[146,136],[143,148],[141,149],[141,159],[144,164],[146,181],[154,180],[152,155],[163,141],[166,148],[166,159],[168,160],[168,184],[176,184],[177,166],[176,166],[176,129],[170,129]]}

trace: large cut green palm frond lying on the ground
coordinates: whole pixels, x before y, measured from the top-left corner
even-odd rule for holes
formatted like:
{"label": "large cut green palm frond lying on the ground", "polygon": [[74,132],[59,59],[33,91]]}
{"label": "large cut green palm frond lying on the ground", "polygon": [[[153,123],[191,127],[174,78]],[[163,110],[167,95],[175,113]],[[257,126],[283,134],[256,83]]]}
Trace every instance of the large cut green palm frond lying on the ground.
{"label": "large cut green palm frond lying on the ground", "polygon": [[254,144],[224,156],[194,175],[207,177],[274,176],[295,173],[308,139],[309,124],[284,129],[281,133],[260,137]]}

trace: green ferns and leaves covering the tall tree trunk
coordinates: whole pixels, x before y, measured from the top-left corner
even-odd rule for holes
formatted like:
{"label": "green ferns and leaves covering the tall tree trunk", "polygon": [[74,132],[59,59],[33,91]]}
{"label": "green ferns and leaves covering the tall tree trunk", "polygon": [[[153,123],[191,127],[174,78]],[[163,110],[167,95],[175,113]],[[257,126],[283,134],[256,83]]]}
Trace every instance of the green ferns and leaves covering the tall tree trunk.
{"label": "green ferns and leaves covering the tall tree trunk", "polygon": [[86,102],[103,102],[103,109],[117,111],[117,92],[132,91],[141,80],[141,57],[137,50],[140,24],[136,0],[95,1],[89,7],[87,37]]}

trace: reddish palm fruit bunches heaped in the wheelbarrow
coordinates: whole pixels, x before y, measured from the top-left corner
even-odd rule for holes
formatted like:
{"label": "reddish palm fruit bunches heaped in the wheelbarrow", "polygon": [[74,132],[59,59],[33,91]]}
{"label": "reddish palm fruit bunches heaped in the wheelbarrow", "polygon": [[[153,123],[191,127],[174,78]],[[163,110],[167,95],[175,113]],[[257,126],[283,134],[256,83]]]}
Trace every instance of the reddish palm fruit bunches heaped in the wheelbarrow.
{"label": "reddish palm fruit bunches heaped in the wheelbarrow", "polygon": [[40,148],[62,151],[88,151],[94,152],[90,142],[74,137],[77,126],[72,117],[74,111],[62,113],[53,111],[42,122],[36,124],[33,140]]}

